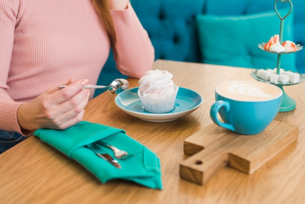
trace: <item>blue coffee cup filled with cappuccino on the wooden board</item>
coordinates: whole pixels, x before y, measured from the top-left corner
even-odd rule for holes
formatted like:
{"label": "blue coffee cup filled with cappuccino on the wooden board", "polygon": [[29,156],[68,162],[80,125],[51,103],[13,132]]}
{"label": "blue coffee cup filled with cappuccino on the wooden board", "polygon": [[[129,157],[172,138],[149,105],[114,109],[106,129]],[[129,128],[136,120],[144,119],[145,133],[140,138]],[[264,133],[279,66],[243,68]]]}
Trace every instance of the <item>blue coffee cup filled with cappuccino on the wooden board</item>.
{"label": "blue coffee cup filled with cappuccino on the wooden board", "polygon": [[[215,124],[235,133],[256,135],[263,132],[276,117],[282,95],[279,87],[266,82],[223,82],[215,88],[210,117]],[[218,114],[223,122],[218,119]]]}

